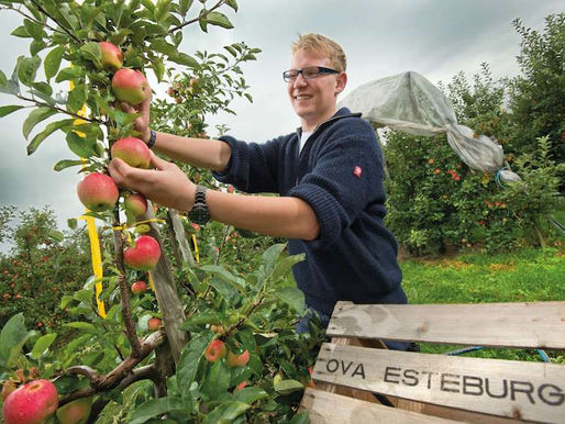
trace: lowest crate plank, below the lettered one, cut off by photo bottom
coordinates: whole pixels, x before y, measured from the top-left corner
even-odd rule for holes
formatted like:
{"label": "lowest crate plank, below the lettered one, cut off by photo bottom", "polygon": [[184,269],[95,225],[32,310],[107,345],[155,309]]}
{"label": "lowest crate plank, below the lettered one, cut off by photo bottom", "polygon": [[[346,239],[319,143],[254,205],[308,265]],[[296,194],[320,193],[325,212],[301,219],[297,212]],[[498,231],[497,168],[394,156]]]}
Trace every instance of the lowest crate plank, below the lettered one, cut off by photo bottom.
{"label": "lowest crate plank, below the lettered one, cut off by photo bottom", "polygon": [[416,412],[403,411],[376,403],[367,403],[358,399],[347,398],[315,389],[306,389],[301,406],[308,410],[310,423],[312,424],[459,423],[457,421],[422,415]]}

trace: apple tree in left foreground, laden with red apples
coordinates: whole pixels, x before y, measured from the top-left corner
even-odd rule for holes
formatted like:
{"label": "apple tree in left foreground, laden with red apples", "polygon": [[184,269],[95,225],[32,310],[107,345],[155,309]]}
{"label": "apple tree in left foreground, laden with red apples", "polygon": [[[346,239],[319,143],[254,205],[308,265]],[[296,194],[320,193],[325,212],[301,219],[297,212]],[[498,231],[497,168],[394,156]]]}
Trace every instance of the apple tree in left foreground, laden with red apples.
{"label": "apple tree in left foreground, laden with red apples", "polygon": [[[146,146],[135,142],[137,114],[120,104],[145,99],[147,72],[168,80],[174,99],[155,102],[157,129],[174,122],[184,129],[180,134],[203,136],[206,113],[233,113],[234,96],[251,100],[240,65],[255,59],[258,49],[243,43],[217,54],[179,49],[185,26],[232,27],[225,13],[237,11],[236,1],[2,0],[0,10],[21,18],[12,35],[30,41],[30,55],[18,58],[12,75],[0,71],[0,90],[19,99],[0,107],[0,118],[31,109],[23,123],[30,155],[47,137],[64,134],[74,157],[54,168],[80,167],[86,175],[78,196],[87,215],[102,223],[103,259],[102,277],[90,277],[60,299],[73,315],[65,325],[78,332],[75,338],[51,348],[55,333],[26,331],[21,314],[7,322],[0,378],[52,379],[59,411],[86,399],[90,421],[115,416],[115,408],[135,423],[303,420],[295,414],[320,341],[315,324],[307,335],[293,327],[303,297],[289,271],[303,258],[287,256],[284,244],[263,249],[261,241],[240,242],[243,232],[213,224],[203,239],[210,248],[196,264],[186,235],[197,230],[175,211],[166,212],[170,228],[165,228],[151,203],[120,191],[108,176],[112,156],[147,166]],[[197,170],[188,171],[196,177]],[[262,253],[251,269],[220,264],[228,239]],[[175,248],[182,254],[171,267],[167,256]],[[152,289],[137,284],[132,292],[137,281]],[[103,312],[92,295],[100,282]],[[34,373],[12,378],[18,367]]]}

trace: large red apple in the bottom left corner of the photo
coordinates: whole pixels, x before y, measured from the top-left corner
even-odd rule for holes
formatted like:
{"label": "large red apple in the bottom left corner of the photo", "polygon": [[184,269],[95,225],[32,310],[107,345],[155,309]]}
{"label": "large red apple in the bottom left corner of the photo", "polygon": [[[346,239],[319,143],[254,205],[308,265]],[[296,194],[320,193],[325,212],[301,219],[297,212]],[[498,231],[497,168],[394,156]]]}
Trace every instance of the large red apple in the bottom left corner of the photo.
{"label": "large red apple in the bottom left corner of the photo", "polygon": [[40,424],[55,413],[57,389],[49,380],[23,384],[5,398],[2,416],[5,424]]}

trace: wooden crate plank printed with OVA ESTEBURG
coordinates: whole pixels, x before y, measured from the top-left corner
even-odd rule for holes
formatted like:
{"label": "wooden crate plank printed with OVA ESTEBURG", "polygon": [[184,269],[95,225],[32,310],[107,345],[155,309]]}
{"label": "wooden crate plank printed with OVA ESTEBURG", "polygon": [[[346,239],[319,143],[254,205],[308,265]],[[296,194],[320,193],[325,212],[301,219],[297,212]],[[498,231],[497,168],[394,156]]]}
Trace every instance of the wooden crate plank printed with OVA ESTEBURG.
{"label": "wooden crate plank printed with OVA ESTEBURG", "polygon": [[565,423],[565,367],[325,343],[313,378],[492,415]]}

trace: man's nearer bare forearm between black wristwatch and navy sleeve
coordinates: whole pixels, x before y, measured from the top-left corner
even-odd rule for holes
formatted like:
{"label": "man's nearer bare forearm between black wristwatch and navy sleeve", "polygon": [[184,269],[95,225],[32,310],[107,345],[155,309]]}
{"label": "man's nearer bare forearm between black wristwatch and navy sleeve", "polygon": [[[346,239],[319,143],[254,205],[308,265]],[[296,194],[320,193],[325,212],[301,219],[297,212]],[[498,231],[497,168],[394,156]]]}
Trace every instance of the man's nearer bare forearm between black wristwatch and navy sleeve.
{"label": "man's nearer bare forearm between black wristwatch and navy sleeve", "polygon": [[312,208],[292,197],[270,198],[207,191],[212,220],[263,235],[314,239],[320,225]]}

